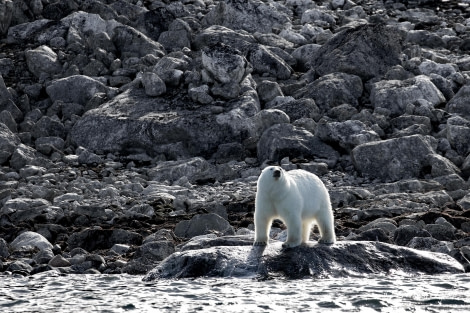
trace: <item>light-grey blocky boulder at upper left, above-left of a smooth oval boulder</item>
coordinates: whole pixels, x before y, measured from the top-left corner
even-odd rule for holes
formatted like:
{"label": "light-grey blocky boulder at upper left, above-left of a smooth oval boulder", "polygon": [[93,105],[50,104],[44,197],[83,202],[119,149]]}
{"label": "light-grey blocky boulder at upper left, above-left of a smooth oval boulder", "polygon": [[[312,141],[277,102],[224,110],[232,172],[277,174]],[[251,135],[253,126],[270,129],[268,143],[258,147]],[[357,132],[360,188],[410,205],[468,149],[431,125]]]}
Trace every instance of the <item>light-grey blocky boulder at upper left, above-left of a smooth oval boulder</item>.
{"label": "light-grey blocky boulder at upper left, above-left of a smooth oval boulder", "polygon": [[25,52],[29,71],[38,78],[53,76],[62,71],[57,54],[48,46],[40,46]]}

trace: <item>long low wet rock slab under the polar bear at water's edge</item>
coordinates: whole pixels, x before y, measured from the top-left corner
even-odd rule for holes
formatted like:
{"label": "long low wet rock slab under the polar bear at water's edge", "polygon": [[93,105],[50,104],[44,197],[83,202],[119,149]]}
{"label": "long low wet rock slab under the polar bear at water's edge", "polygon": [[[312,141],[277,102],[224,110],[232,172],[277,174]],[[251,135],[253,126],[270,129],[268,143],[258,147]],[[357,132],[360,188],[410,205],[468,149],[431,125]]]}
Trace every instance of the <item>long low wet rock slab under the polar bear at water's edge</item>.
{"label": "long low wet rock slab under the polar bear at water's edge", "polygon": [[252,246],[252,242],[249,236],[189,242],[151,270],[144,280],[256,276],[299,279],[400,271],[425,274],[464,272],[462,265],[446,254],[382,242],[312,243],[291,249],[283,249],[281,242],[273,242],[266,247]]}

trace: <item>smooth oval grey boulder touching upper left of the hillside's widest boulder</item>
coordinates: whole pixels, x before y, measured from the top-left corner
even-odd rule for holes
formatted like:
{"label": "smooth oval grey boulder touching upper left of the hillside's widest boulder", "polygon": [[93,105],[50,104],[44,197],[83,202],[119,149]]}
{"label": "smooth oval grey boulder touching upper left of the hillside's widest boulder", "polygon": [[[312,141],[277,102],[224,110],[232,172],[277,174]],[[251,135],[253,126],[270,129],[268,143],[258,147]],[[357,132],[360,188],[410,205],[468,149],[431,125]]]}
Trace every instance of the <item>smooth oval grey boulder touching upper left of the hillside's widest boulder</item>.
{"label": "smooth oval grey boulder touching upper left of the hillside's widest boulder", "polygon": [[84,75],[73,75],[54,80],[46,87],[46,92],[53,102],[59,100],[63,102],[75,102],[81,105],[86,105],[97,92],[110,95],[108,87]]}

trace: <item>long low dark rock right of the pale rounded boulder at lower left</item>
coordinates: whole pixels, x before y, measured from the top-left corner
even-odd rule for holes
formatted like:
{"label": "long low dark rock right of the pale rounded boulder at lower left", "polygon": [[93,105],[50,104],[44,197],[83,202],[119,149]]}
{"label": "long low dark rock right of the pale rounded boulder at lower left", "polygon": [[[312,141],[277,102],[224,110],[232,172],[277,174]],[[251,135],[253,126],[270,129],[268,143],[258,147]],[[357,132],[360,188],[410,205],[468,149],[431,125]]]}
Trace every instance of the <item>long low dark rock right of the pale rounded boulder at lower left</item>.
{"label": "long low dark rock right of the pale rounded boulder at lower left", "polygon": [[87,251],[110,249],[113,245],[140,245],[142,236],[124,229],[90,229],[72,233],[67,241],[68,248],[83,248]]}

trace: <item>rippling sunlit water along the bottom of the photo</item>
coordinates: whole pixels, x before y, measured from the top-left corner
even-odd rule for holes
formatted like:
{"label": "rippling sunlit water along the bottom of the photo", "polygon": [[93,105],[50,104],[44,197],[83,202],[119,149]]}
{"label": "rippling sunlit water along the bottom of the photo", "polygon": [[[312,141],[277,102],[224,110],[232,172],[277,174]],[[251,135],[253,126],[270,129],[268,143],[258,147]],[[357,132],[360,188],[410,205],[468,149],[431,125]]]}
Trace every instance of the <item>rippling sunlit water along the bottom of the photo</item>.
{"label": "rippling sunlit water along the bottom of the photo", "polygon": [[0,276],[0,312],[470,312],[470,275],[305,280]]}

